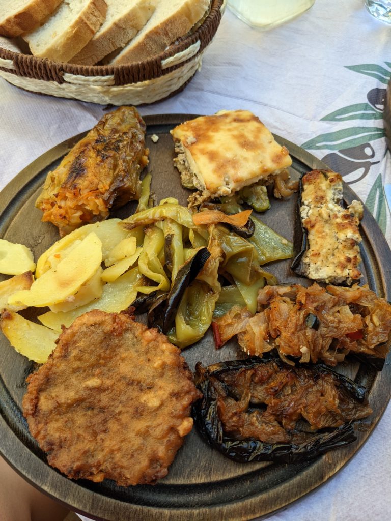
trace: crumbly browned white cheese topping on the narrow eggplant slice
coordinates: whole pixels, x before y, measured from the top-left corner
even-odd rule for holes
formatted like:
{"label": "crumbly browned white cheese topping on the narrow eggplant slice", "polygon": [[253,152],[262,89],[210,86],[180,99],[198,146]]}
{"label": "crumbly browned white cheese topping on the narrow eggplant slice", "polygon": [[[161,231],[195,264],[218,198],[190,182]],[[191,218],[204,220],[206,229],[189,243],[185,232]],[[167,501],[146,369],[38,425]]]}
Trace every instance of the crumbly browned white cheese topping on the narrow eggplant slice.
{"label": "crumbly browned white cheese topping on the narrow eggplant slice", "polygon": [[291,268],[298,275],[327,284],[350,286],[361,277],[362,204],[344,207],[339,173],[312,170],[300,178],[296,256]]}

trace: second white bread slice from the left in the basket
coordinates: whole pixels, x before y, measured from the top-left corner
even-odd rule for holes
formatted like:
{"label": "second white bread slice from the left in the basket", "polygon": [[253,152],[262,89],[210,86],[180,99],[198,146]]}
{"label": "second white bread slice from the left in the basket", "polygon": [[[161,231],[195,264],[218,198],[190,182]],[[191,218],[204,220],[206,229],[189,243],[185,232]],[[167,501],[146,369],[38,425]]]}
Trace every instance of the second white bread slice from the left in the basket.
{"label": "second white bread slice from the left in the basket", "polygon": [[68,61],[101,27],[106,11],[104,0],[63,0],[43,26],[23,38],[34,56]]}

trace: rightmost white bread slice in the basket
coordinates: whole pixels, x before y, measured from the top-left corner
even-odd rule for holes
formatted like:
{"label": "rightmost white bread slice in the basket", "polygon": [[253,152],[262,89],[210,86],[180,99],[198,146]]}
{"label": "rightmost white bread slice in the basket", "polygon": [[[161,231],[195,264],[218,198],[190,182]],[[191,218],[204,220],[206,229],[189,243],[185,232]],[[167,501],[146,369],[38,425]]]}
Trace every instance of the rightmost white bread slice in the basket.
{"label": "rightmost white bread slice in the basket", "polygon": [[161,0],[155,12],[111,64],[141,61],[160,54],[179,36],[184,36],[209,8],[210,0]]}

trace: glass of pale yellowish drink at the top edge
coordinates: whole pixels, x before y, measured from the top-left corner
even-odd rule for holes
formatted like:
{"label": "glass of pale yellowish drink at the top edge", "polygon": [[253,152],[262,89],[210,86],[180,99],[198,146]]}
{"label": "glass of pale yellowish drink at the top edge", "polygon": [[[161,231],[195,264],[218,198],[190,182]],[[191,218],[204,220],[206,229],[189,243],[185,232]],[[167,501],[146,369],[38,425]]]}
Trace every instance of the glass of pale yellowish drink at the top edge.
{"label": "glass of pale yellowish drink at the top edge", "polygon": [[307,11],[315,0],[228,0],[235,15],[258,29],[271,29]]}

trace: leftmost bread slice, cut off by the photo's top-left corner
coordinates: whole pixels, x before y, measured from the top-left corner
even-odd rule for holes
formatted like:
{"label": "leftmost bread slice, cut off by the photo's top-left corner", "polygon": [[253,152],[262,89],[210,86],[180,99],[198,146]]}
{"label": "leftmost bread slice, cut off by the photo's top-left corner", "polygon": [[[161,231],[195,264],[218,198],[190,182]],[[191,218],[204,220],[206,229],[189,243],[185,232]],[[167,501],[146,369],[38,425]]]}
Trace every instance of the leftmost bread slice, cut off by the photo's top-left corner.
{"label": "leftmost bread slice, cut off by the photo's top-left corner", "polygon": [[0,0],[0,35],[15,38],[39,26],[62,0]]}

